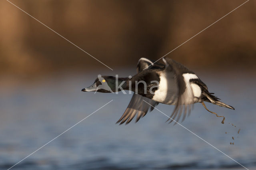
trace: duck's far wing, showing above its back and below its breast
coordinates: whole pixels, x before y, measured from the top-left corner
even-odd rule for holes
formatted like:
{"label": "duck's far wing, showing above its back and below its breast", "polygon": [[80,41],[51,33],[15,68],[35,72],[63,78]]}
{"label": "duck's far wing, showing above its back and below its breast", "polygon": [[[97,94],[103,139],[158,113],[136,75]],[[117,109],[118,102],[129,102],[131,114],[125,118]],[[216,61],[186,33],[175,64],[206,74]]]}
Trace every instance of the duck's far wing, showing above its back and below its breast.
{"label": "duck's far wing, showing above its back and below its breast", "polygon": [[[161,63],[153,63],[154,62],[149,59],[140,58],[137,65],[137,73],[144,69],[156,69],[165,67],[165,65]],[[128,124],[136,115],[136,122],[138,122],[138,120],[140,120],[141,117],[144,117],[151,106],[143,100],[150,103],[150,105],[154,107],[158,105],[158,102],[134,93],[127,109],[124,111],[124,114],[116,123],[120,122],[121,125],[124,122],[126,122],[126,124]],[[150,111],[152,111],[154,107],[151,107]]]}

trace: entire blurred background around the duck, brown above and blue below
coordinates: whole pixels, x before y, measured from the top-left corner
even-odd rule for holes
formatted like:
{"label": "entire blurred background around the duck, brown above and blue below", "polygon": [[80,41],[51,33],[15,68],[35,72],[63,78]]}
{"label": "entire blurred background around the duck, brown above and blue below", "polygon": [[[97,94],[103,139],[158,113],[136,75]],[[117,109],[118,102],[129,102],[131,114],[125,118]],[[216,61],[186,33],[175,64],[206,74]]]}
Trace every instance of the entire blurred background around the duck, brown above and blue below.
{"label": "entire blurred background around the duck, brown above and blue below", "polygon": [[[159,59],[244,0],[11,2],[114,70],[0,1],[0,168],[114,99],[14,168],[243,169],[179,125],[164,123],[156,110],[136,124],[115,125],[131,95],[81,89],[99,73],[134,75],[140,57]],[[247,168],[256,167],[255,8],[255,1],[247,2],[166,56],[194,70],[210,92],[236,109],[207,105],[226,117],[222,125],[196,104],[182,125]],[[173,108],[158,105],[167,115]]]}

